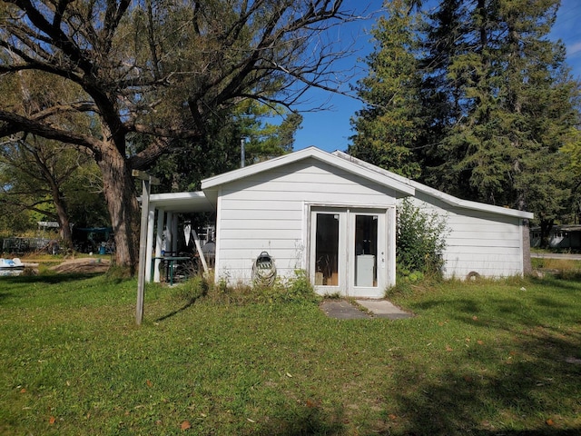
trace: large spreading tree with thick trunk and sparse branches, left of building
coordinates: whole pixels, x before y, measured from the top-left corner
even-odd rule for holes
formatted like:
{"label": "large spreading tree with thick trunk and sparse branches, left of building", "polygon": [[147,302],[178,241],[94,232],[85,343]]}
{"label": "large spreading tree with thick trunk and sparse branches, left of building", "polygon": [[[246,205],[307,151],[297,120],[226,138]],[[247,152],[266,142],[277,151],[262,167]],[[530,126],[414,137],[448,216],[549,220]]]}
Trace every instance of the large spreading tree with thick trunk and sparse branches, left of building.
{"label": "large spreading tree with thick trunk and sparse branches, left of building", "polygon": [[[333,88],[332,45],[314,45],[346,18],[336,0],[6,0],[0,3],[0,137],[35,134],[81,146],[103,174],[115,261],[135,271],[133,169],[243,99],[290,106],[308,86]],[[18,74],[48,74],[80,97],[25,94]],[[78,116],[97,123],[76,124]],[[69,122],[67,122],[67,120]],[[128,138],[139,134],[144,147]],[[143,138],[146,141],[143,142]]]}

